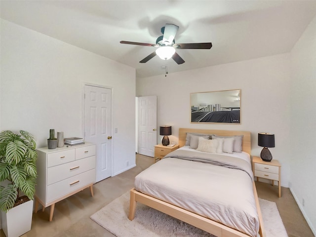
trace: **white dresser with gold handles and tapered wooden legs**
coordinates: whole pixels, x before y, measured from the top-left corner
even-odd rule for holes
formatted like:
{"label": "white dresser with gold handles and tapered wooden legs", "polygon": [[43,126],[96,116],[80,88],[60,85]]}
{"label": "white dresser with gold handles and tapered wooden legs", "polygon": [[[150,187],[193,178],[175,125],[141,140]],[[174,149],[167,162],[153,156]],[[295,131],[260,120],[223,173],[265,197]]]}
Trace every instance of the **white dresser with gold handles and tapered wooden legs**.
{"label": "white dresser with gold handles and tapered wooden legs", "polygon": [[95,183],[95,144],[64,146],[56,149],[37,149],[37,185],[35,187],[35,213],[39,203],[50,207],[52,221],[55,203],[70,197]]}

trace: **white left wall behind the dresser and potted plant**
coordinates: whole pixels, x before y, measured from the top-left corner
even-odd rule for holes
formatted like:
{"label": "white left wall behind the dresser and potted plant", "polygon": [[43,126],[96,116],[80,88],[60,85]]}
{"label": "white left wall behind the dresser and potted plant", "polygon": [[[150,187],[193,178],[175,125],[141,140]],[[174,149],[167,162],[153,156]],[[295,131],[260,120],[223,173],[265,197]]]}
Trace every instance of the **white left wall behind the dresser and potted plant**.
{"label": "white left wall behind the dresser and potted plant", "polygon": [[1,20],[0,128],[27,130],[38,147],[47,146],[50,128],[83,137],[83,83],[112,87],[118,174],[135,165],[135,75],[131,67]]}

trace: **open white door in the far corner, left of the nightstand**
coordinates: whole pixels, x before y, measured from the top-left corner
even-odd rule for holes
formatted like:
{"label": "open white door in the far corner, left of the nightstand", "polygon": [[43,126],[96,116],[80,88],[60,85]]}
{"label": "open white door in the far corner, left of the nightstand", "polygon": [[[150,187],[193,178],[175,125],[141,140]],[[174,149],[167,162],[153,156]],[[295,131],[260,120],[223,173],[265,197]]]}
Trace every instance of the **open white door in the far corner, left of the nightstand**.
{"label": "open white door in the far corner, left of the nightstand", "polygon": [[157,145],[157,96],[138,98],[138,152],[154,157]]}

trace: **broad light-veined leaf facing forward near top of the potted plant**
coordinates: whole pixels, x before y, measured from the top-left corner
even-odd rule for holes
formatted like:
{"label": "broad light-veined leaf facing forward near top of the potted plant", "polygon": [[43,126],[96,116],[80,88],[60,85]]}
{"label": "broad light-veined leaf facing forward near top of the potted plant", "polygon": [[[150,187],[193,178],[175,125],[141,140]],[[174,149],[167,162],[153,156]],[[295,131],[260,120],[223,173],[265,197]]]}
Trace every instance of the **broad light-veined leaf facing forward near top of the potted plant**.
{"label": "broad light-veined leaf facing forward near top of the potted plant", "polygon": [[9,164],[14,164],[16,165],[17,163],[19,163],[25,153],[27,151],[27,146],[19,141],[19,140],[15,140],[14,142],[9,142],[8,145],[6,146],[6,159],[7,159],[7,162]]}

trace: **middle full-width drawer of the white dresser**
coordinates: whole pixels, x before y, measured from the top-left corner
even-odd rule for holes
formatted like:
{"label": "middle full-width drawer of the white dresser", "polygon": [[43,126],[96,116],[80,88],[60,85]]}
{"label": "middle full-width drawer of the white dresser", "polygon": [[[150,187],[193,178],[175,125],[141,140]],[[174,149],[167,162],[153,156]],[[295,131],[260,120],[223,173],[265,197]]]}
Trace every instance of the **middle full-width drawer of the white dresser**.
{"label": "middle full-width drawer of the white dresser", "polygon": [[47,185],[95,168],[95,156],[87,157],[47,169]]}

